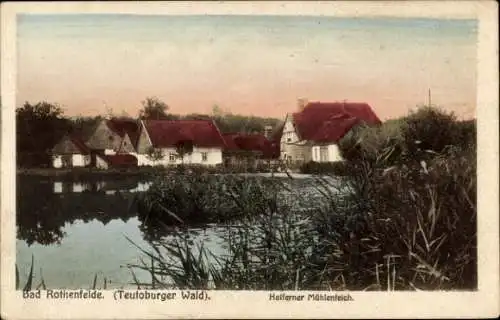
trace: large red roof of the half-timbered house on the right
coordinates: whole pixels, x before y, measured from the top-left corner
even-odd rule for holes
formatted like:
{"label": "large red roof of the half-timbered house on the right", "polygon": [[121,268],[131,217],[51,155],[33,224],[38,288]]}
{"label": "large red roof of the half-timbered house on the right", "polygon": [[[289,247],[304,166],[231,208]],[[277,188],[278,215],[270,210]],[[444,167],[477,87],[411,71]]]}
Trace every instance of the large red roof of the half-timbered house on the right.
{"label": "large red roof of the half-timbered house on the right", "polygon": [[357,102],[311,102],[292,116],[299,137],[314,142],[337,142],[356,124],[381,123],[368,104]]}

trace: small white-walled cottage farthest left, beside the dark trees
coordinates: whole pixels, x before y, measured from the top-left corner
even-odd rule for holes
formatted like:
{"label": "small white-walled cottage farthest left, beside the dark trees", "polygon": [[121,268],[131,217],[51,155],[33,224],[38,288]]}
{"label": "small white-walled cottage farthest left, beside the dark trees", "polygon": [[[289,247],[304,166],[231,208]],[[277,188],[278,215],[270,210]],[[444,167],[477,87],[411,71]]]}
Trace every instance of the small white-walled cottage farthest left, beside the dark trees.
{"label": "small white-walled cottage farthest left, beside the dark trees", "polygon": [[52,148],[54,168],[86,167],[90,163],[90,149],[77,137],[65,135]]}

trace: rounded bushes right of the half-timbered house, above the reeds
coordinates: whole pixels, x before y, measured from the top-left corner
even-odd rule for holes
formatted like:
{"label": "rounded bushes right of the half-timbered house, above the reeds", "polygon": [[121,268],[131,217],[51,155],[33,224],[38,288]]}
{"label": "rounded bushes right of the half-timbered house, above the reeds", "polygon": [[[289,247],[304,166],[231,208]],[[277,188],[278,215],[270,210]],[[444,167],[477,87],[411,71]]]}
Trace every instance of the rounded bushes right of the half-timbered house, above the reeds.
{"label": "rounded bushes right of the half-timbered house, above the reeds", "polygon": [[379,168],[429,160],[450,146],[475,145],[475,121],[457,121],[453,113],[433,107],[381,126],[357,126],[339,141],[344,159]]}

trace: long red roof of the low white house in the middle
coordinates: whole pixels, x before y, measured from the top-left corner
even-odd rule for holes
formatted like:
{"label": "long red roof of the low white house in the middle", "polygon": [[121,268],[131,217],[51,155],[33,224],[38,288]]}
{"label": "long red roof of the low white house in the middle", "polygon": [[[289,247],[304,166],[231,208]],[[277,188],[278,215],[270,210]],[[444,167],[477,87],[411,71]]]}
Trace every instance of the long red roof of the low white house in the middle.
{"label": "long red roof of the low white house in the middle", "polygon": [[212,120],[143,120],[154,147],[175,147],[192,141],[195,147],[226,148],[224,138]]}

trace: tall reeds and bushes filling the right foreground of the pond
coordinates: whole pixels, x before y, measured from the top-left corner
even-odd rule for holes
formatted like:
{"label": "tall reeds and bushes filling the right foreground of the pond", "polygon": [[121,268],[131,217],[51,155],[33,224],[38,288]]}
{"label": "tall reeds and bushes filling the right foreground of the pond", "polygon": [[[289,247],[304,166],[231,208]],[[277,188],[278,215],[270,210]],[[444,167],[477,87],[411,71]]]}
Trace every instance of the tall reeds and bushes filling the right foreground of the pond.
{"label": "tall reeds and bushes filling the right foreground of the pond", "polygon": [[[158,183],[141,217],[179,232],[143,251],[152,264],[131,267],[155,288],[474,290],[475,130],[428,107],[360,127],[340,143],[346,178],[318,176],[311,194],[283,196],[291,178]],[[231,222],[225,253],[193,244],[192,221]]]}

